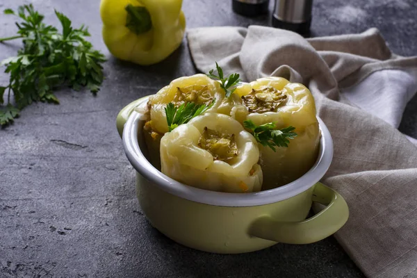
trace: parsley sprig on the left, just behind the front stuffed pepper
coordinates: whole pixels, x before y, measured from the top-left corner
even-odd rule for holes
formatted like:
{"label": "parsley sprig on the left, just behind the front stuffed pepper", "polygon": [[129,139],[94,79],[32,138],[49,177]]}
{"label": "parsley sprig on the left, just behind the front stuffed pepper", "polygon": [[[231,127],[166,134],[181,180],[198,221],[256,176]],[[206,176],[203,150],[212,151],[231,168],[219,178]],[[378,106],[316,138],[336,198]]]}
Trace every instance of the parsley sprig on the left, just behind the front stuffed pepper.
{"label": "parsley sprig on the left, just behind the front stuffed pepper", "polygon": [[172,102],[165,107],[165,115],[167,117],[168,130],[172,131],[180,124],[190,122],[193,117],[197,117],[206,112],[213,106],[215,99],[210,104],[194,104],[193,102],[186,102],[179,107],[174,106]]}

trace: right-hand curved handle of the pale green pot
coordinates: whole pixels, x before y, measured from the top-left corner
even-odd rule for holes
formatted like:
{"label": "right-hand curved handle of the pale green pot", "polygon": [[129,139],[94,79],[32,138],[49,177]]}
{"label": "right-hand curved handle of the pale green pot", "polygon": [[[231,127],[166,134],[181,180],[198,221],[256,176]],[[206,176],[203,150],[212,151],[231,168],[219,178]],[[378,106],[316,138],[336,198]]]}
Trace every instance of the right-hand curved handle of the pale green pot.
{"label": "right-hand curved handle of the pale green pot", "polygon": [[279,222],[270,216],[261,216],[250,227],[250,235],[279,243],[315,243],[341,229],[349,218],[345,199],[322,183],[314,186],[312,200],[326,207],[300,222]]}

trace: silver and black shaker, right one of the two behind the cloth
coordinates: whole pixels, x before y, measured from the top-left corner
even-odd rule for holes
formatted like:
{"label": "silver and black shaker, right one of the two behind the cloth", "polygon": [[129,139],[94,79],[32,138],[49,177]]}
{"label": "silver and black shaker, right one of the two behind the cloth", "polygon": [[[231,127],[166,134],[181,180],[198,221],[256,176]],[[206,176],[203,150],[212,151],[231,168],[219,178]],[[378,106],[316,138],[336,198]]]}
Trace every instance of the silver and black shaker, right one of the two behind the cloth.
{"label": "silver and black shaker, right one of the two behind the cloth", "polygon": [[272,26],[308,37],[313,0],[275,0]]}

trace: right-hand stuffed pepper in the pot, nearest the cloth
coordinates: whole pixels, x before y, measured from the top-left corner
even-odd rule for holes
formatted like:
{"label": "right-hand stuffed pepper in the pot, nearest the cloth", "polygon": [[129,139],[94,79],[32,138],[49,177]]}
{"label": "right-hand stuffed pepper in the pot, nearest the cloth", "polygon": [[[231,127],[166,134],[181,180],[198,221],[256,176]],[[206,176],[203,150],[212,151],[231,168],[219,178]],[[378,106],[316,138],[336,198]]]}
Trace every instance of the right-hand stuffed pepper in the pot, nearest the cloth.
{"label": "right-hand stuffed pepper in the pot, nearest the cloth", "polygon": [[[232,116],[260,138],[262,190],[283,186],[305,174],[316,161],[320,140],[316,104],[309,89],[281,77],[268,77],[240,85],[234,93],[243,105],[236,106]],[[263,129],[271,129],[278,139],[284,134],[290,140],[279,139],[282,142],[272,147],[261,144],[266,142]]]}

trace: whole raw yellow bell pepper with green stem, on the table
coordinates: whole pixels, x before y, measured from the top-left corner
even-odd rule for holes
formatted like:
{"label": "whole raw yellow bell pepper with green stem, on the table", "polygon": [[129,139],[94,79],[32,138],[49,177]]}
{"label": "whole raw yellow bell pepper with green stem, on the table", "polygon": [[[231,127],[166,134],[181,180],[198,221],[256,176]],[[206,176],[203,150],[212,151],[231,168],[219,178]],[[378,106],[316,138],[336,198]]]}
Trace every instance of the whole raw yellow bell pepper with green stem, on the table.
{"label": "whole raw yellow bell pepper with green stem, on the table", "polygon": [[103,39],[122,60],[152,65],[179,47],[186,28],[182,0],[101,0]]}

